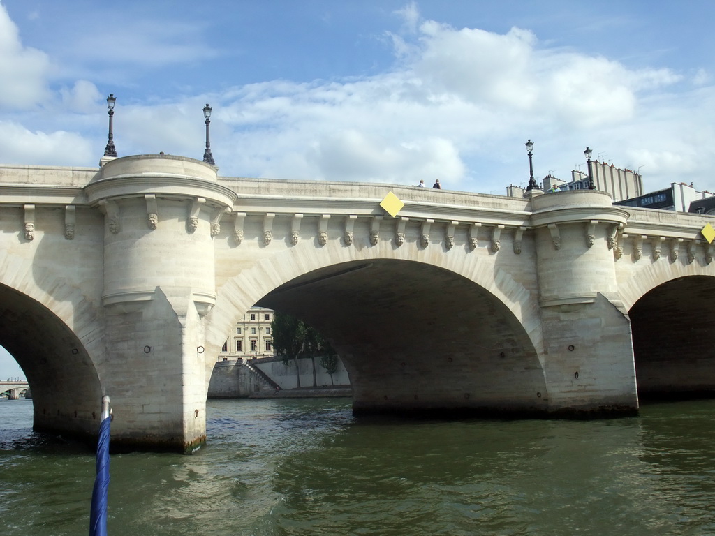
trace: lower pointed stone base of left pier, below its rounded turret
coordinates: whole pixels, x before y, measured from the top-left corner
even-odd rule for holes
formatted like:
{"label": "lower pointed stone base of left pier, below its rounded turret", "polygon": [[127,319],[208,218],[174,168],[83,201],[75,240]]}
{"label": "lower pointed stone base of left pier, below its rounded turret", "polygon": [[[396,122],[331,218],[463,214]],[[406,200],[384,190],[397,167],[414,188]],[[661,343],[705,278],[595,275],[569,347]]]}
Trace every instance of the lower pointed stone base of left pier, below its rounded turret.
{"label": "lower pointed stone base of left pier, below its rounded turret", "polygon": [[[112,443],[191,452],[206,440],[202,318],[188,287],[107,306],[102,384],[112,393]],[[128,372],[130,371],[130,372]]]}

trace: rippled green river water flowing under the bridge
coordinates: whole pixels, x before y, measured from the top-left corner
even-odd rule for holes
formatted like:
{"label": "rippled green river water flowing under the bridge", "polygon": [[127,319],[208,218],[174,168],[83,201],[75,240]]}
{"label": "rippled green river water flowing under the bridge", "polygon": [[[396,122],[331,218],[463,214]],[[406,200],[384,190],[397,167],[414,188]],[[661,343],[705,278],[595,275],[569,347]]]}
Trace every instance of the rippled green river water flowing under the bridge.
{"label": "rippled green river water flowing under the bridge", "polygon": [[[0,401],[4,535],[84,535],[94,455]],[[112,455],[109,536],[715,535],[715,400],[595,421],[355,419],[209,400],[193,456]]]}

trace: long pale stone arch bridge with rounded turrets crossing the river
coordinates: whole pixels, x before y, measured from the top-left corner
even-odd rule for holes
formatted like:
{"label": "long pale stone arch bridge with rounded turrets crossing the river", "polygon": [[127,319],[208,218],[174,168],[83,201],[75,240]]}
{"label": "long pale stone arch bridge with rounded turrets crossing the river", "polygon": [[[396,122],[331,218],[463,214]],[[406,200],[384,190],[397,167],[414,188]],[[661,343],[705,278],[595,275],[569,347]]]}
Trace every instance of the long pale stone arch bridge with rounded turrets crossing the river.
{"label": "long pale stone arch bridge with rounded turrets crossing the river", "polygon": [[254,304],[330,339],[356,414],[630,415],[715,389],[714,217],[102,164],[0,167],[0,344],[36,430],[96,437],[109,394],[117,447],[192,451]]}

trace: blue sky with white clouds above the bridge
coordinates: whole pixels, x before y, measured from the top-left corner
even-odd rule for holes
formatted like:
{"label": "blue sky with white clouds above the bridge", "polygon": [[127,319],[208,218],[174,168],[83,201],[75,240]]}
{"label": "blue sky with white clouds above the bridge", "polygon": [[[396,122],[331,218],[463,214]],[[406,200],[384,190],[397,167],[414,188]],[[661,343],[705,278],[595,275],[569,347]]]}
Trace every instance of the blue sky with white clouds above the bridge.
{"label": "blue sky with white clouds above the bridge", "polygon": [[[583,149],[715,191],[715,2],[0,0],[0,163],[119,156],[220,174],[504,194]],[[5,372],[0,359],[0,378]]]}

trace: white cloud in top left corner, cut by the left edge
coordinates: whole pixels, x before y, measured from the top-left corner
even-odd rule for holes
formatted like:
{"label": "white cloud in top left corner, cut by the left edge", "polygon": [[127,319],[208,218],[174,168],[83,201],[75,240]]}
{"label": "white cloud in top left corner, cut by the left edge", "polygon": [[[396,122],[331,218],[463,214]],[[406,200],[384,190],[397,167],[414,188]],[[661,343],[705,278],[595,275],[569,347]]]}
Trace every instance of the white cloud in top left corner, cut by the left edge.
{"label": "white cloud in top left corner, cut by the left edge", "polygon": [[17,26],[0,4],[0,109],[29,109],[49,96],[44,52],[25,48]]}

